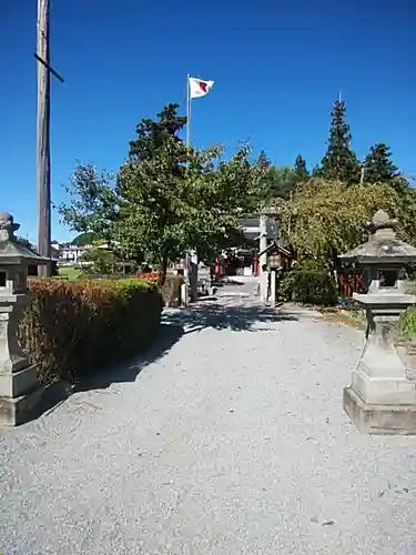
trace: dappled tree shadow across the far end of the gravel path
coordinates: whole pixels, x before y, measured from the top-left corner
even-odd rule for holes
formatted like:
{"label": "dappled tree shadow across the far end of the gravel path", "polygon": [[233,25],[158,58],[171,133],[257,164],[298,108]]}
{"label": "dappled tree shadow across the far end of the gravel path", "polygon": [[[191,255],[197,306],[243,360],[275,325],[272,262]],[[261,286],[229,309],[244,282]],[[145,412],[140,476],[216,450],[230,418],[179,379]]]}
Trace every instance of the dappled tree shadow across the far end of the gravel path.
{"label": "dappled tree shadow across the far end of the gravel path", "polygon": [[166,323],[183,326],[184,333],[199,332],[205,327],[234,332],[262,332],[272,330],[264,324],[285,321],[297,322],[298,317],[267,306],[224,305],[215,302],[204,303],[203,306],[194,305],[187,310],[180,309],[165,316]]}

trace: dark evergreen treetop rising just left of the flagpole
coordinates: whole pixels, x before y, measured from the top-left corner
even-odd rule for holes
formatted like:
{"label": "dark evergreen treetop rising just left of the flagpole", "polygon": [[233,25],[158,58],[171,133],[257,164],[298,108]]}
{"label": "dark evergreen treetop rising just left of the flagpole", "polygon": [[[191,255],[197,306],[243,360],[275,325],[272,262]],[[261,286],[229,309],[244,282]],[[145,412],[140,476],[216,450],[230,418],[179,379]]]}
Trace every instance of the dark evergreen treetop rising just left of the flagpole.
{"label": "dark evergreen treetop rising just left of the flagpole", "polygon": [[130,142],[130,161],[143,162],[154,158],[169,138],[177,141],[179,133],[186,125],[186,117],[177,114],[179,104],[169,104],[156,114],[158,120],[144,118],[136,128],[136,139]]}

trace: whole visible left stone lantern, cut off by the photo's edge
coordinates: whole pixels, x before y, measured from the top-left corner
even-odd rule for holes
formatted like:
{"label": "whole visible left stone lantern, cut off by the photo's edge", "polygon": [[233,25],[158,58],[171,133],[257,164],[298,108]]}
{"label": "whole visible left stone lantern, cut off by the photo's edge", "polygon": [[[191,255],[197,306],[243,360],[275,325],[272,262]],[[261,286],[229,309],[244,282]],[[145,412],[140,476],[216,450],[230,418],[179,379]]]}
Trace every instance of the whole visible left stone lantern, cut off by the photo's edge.
{"label": "whole visible left stone lantern, cut off by the photo's edge", "polygon": [[37,364],[30,364],[18,341],[19,320],[29,305],[28,265],[48,260],[21,246],[14,238],[20,228],[7,212],[0,213],[0,424],[24,422],[43,390]]}

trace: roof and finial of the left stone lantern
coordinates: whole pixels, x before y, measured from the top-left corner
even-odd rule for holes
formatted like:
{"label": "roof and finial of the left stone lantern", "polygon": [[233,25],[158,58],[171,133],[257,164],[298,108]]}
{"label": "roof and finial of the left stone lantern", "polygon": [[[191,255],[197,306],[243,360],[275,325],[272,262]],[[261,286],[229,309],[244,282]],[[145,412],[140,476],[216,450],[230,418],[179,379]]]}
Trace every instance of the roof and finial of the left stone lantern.
{"label": "roof and finial of the left stone lantern", "polygon": [[14,223],[13,216],[8,212],[0,212],[0,266],[1,265],[43,265],[48,259],[26,249],[14,238],[14,232],[20,228]]}

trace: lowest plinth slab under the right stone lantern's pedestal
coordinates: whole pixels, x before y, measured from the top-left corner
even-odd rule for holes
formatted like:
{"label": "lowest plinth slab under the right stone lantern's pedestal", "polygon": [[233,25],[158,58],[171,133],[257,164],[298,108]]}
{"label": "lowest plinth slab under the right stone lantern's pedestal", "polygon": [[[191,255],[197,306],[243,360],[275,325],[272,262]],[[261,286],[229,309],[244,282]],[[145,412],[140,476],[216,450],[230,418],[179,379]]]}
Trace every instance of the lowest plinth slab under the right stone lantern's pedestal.
{"label": "lowest plinth slab under the right stone lantern's pedestal", "polygon": [[416,435],[416,405],[367,404],[349,386],[344,389],[344,410],[362,434]]}

